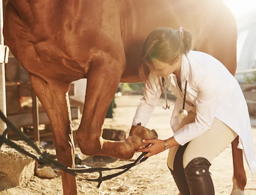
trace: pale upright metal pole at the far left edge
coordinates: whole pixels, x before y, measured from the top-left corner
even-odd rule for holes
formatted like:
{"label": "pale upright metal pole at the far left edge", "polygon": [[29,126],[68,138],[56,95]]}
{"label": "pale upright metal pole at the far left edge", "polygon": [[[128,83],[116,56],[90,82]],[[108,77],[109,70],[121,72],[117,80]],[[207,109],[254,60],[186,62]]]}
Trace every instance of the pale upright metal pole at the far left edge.
{"label": "pale upright metal pole at the far left edge", "polygon": [[[3,45],[3,1],[0,0],[0,44]],[[0,109],[6,116],[6,95],[5,95],[5,64],[0,63]],[[6,124],[0,120],[0,135],[6,129]]]}

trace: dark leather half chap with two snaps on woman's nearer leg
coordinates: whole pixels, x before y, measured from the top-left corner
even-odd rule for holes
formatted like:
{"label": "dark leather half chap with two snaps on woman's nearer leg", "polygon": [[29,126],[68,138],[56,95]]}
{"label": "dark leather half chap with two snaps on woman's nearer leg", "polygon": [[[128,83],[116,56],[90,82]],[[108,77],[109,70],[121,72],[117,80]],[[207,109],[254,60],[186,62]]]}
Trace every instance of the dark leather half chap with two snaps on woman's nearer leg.
{"label": "dark leather half chap with two snaps on woman's nearer leg", "polygon": [[210,176],[209,167],[212,164],[198,157],[186,166],[185,175],[191,195],[214,195],[214,186]]}

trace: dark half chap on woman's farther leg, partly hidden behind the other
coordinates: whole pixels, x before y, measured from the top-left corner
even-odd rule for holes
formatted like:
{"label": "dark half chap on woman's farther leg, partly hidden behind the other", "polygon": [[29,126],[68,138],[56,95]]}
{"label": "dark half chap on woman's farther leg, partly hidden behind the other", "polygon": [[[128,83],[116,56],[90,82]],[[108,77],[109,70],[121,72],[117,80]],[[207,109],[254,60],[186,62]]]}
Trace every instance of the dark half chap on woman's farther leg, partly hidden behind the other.
{"label": "dark half chap on woman's farther leg, partly hidden behind the other", "polygon": [[169,170],[171,171],[171,174],[174,178],[174,181],[181,195],[190,195],[190,189],[189,189],[188,182],[186,180],[186,176],[183,168],[183,154],[187,146],[188,146],[188,143],[186,143],[184,146],[179,146],[174,157],[174,163],[173,163],[174,170],[171,170],[168,167]]}

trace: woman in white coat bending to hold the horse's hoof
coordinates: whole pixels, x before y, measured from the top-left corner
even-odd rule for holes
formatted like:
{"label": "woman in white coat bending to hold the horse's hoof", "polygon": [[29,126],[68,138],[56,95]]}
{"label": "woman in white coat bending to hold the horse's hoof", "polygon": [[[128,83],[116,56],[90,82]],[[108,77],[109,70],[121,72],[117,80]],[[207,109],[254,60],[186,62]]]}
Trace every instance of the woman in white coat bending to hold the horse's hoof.
{"label": "woman in white coat bending to hold the horse's hoof", "polygon": [[228,69],[207,53],[190,49],[191,35],[182,27],[157,28],[144,42],[139,72],[142,80],[150,74],[133,125],[148,123],[165,92],[164,83],[177,100],[170,122],[174,136],[142,140],[152,145],[137,152],[148,152],[149,157],[169,149],[167,164],[181,195],[214,195],[210,161],[237,135],[254,173],[250,118],[239,83]]}

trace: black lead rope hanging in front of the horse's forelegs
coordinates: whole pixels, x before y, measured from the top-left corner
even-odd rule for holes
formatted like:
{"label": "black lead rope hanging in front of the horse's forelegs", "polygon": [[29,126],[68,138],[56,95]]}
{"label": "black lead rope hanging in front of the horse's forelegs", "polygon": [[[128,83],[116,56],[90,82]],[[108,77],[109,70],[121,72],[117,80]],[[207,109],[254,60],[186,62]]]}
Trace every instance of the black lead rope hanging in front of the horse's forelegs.
{"label": "black lead rope hanging in front of the horse's forelegs", "polygon": [[[47,165],[54,165],[56,168],[59,168],[71,175],[74,176],[78,176],[78,174],[80,173],[94,173],[94,172],[99,172],[100,176],[96,179],[86,179],[86,178],[82,178],[85,179],[87,181],[94,181],[94,182],[98,182],[98,188],[100,187],[101,183],[103,181],[112,179],[114,177],[117,177],[123,173],[125,173],[126,171],[130,170],[130,168],[144,162],[145,160],[148,159],[148,157],[144,157],[146,153],[142,153],[133,163],[127,164],[127,165],[122,165],[120,167],[115,167],[115,168],[103,168],[103,167],[96,167],[96,168],[70,168],[67,167],[66,165],[63,165],[62,163],[58,162],[57,160],[51,159],[49,157],[49,154],[45,154],[42,153],[40,151],[40,149],[38,148],[38,146],[36,146],[36,144],[33,142],[33,140],[31,140],[27,135],[25,135],[23,132],[19,131],[3,114],[3,112],[0,110],[0,118],[6,123],[7,128],[5,129],[5,131],[3,132],[3,135],[0,136],[0,147],[2,146],[3,143],[5,143],[6,145],[9,145],[11,148],[16,149],[17,151],[19,151],[22,154],[25,154],[29,157],[31,157],[32,159],[35,159],[36,161],[38,161],[40,164],[47,164]],[[22,138],[22,140],[24,140],[28,145],[30,145],[33,149],[35,149],[35,151],[40,155],[40,156],[35,156],[34,154],[31,154],[29,152],[27,152],[25,149],[21,148],[20,146],[18,146],[16,143],[12,142],[11,140],[9,140],[8,138],[6,138],[8,129],[11,129],[15,134],[19,135],[19,137]],[[114,173],[111,175],[107,175],[107,176],[102,176],[102,171],[110,171],[110,170],[119,170],[119,169],[124,169],[123,171],[120,171],[118,173]],[[79,177],[81,178],[81,177]]]}

